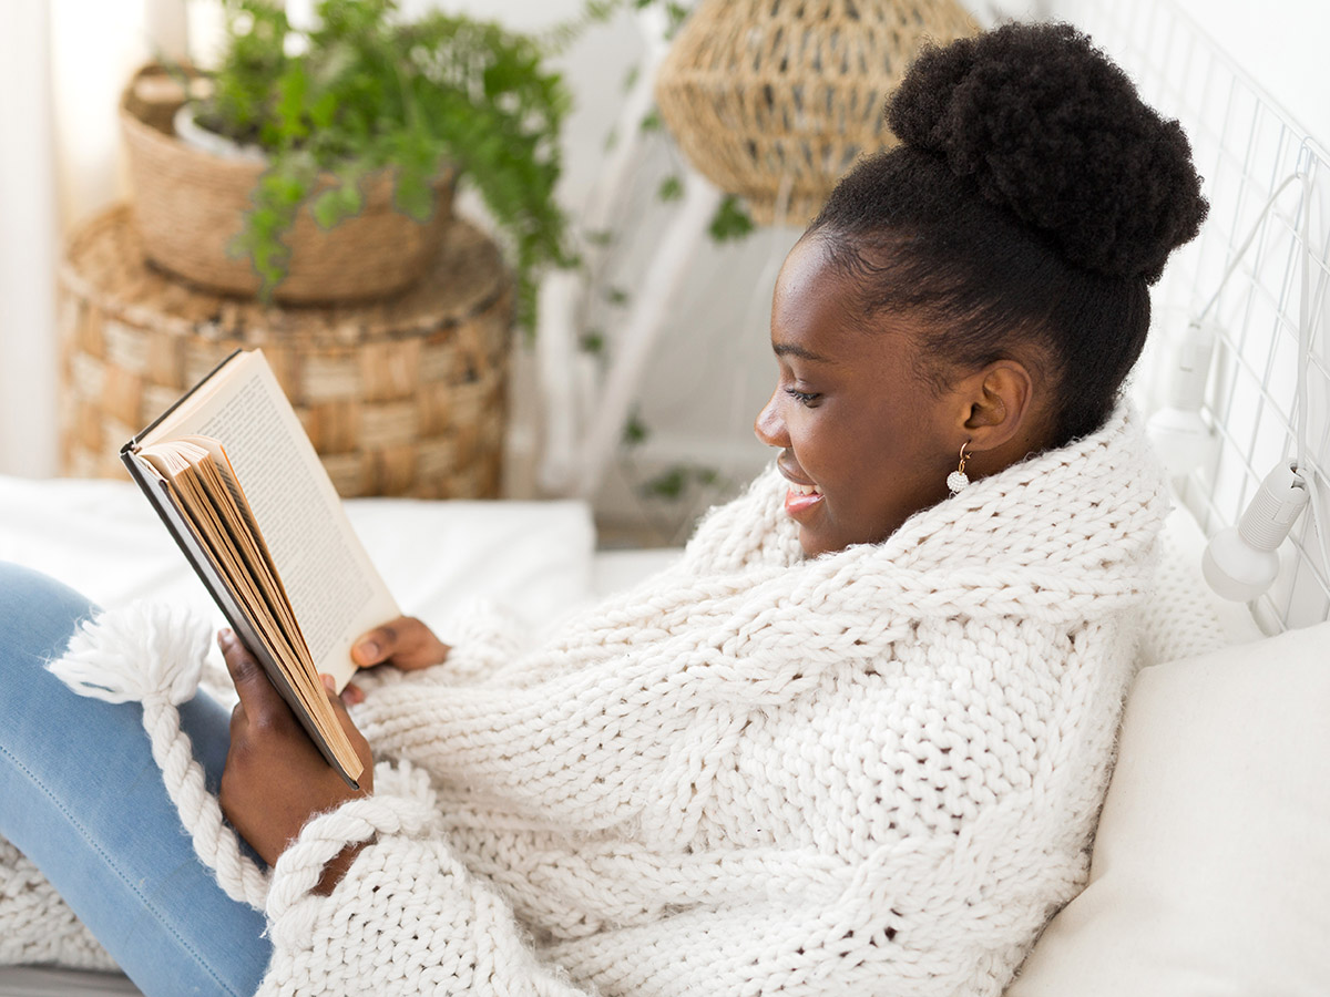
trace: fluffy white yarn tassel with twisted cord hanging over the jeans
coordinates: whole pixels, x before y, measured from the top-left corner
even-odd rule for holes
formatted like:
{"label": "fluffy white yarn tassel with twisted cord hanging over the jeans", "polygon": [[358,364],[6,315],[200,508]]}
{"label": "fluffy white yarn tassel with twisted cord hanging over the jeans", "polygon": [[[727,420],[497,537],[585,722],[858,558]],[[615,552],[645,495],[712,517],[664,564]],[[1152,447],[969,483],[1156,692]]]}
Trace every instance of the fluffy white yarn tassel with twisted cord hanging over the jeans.
{"label": "fluffy white yarn tassel with twisted cord hanging over the jeans", "polygon": [[210,638],[210,627],[189,613],[134,604],[84,623],[49,667],[78,695],[142,703],[153,760],[193,837],[194,853],[217,873],[229,897],[263,909],[269,876],[241,851],[221,804],[207,792],[189,735],[180,728],[177,706],[198,690]]}

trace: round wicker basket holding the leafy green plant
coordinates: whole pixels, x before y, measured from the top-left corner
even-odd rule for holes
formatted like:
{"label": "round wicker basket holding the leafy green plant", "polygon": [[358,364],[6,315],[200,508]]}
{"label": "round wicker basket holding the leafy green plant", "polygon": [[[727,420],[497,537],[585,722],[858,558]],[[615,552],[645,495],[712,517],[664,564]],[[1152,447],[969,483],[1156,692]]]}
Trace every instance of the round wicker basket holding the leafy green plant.
{"label": "round wicker basket holding the leafy green plant", "polygon": [[[180,84],[154,65],[136,73],[121,97],[134,225],[157,266],[209,290],[253,295],[258,274],[247,258],[229,255],[227,246],[243,225],[265,166],[222,158],[176,138],[172,118],[184,102]],[[291,304],[342,302],[410,287],[438,251],[451,217],[454,178],[450,171],[435,182],[436,207],[424,223],[392,206],[387,171],[364,181],[360,214],[332,229],[321,229],[302,210],[285,237],[291,247],[290,270],[274,298]]]}

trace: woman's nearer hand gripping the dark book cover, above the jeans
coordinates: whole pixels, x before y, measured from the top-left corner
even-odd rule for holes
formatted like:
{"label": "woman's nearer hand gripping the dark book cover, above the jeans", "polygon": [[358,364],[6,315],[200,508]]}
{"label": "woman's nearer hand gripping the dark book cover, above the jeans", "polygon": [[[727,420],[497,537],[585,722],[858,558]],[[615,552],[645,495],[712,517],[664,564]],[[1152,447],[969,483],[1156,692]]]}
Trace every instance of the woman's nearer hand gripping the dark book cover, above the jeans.
{"label": "woman's nearer hand gripping the dark book cover, above the jeans", "polygon": [[[323,759],[235,634],[222,630],[217,642],[241,697],[231,713],[231,746],[219,794],[222,812],[271,865],[311,816],[374,791],[374,758],[327,679],[325,689],[332,711],[364,764],[360,790],[352,790]],[[348,848],[329,863],[321,888],[331,891],[356,851]]]}

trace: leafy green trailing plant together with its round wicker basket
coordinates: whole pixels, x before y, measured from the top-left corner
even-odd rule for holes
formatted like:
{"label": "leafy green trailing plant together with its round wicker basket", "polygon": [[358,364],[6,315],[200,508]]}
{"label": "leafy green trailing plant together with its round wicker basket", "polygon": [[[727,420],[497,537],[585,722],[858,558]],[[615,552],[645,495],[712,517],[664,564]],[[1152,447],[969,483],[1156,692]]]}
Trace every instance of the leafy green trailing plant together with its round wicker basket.
{"label": "leafy green trailing plant together with its round wicker basket", "polygon": [[[540,269],[564,262],[555,183],[569,98],[540,45],[440,12],[407,20],[395,0],[321,0],[305,29],[265,0],[219,1],[215,69],[172,68],[162,94],[168,70],[149,68],[122,104],[148,255],[282,300],[391,292],[428,266],[460,173],[507,243],[529,326]],[[185,145],[178,114],[258,161]],[[193,234],[206,253],[180,245]]]}

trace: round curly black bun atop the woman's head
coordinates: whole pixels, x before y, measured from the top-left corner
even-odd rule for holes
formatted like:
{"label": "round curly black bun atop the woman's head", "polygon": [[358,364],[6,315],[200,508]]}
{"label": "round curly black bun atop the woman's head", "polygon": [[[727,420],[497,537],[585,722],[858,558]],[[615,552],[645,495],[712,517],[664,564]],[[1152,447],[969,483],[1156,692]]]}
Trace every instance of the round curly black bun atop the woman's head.
{"label": "round curly black bun atop the woman's head", "polygon": [[886,114],[904,145],[943,157],[1091,271],[1154,283],[1205,219],[1182,128],[1065,24],[924,49]]}

